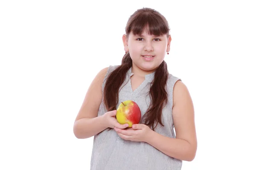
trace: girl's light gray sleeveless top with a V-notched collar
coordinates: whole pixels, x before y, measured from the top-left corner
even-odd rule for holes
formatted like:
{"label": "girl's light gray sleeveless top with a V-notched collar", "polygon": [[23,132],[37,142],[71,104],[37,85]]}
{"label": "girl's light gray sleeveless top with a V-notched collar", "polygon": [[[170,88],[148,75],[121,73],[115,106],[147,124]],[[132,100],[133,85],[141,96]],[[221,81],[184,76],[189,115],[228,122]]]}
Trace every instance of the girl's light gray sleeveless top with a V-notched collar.
{"label": "girl's light gray sleeveless top with a V-notched collar", "polygon": [[[108,75],[116,67],[118,65],[108,68],[102,85],[102,93]],[[125,81],[120,87],[119,101],[116,108],[122,101],[133,100],[139,105],[143,116],[151,101],[150,96],[147,94],[149,92],[150,82],[154,79],[154,72],[145,75],[145,81],[135,91],[132,91],[131,88],[130,77],[132,75],[133,73],[130,68],[126,74]],[[158,124],[155,129],[157,133],[171,138],[175,138],[172,119],[172,92],[177,80],[180,79],[169,74],[167,81],[168,103],[163,108],[162,113],[164,127]],[[102,100],[98,116],[106,112],[107,110]],[[114,129],[109,131],[103,130],[101,133],[95,135],[93,139],[90,170],[180,170],[181,165],[181,160],[167,156],[146,142],[123,140],[117,135]]]}

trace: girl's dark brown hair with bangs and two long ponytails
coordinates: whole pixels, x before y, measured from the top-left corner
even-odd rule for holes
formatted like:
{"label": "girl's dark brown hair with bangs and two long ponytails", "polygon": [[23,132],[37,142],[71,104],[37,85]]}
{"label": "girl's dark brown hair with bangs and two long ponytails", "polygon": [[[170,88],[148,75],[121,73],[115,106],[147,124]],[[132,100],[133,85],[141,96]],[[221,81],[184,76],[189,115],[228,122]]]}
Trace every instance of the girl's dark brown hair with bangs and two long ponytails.
{"label": "girl's dark brown hair with bangs and two long ponytails", "polygon": [[[166,34],[169,37],[169,26],[166,18],[154,9],[142,8],[135,11],[127,22],[125,32],[127,37],[131,32],[135,35],[140,35],[145,28],[147,28],[148,34],[156,36]],[[116,110],[119,88],[124,82],[126,73],[131,66],[132,59],[128,52],[122,58],[121,65],[109,74],[103,95],[104,104],[108,111]],[[167,64],[163,61],[155,70],[154,80],[151,82],[149,91],[151,104],[142,119],[145,120],[144,124],[151,127],[152,130],[154,130],[158,123],[163,126],[161,117],[162,109],[167,103],[166,82],[168,74]],[[155,127],[154,123],[156,123]]]}

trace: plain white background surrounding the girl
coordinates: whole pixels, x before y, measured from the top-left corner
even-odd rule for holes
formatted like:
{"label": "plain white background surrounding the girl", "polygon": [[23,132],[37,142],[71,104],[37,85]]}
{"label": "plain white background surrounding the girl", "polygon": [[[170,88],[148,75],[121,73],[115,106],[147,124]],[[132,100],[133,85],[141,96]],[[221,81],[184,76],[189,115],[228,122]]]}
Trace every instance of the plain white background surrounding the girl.
{"label": "plain white background surrounding the girl", "polygon": [[198,150],[182,170],[255,170],[253,0],[0,1],[0,169],[89,170],[73,123],[90,82],[124,55],[138,8],[171,28],[169,73],[187,85]]}

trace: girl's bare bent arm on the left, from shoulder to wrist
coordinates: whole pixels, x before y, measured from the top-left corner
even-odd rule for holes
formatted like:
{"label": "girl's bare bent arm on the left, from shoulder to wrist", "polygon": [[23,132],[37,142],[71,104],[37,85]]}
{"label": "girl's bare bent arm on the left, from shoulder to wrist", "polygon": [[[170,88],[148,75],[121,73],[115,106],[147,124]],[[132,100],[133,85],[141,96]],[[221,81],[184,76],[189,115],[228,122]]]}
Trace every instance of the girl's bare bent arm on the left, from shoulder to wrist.
{"label": "girl's bare bent arm on the left, from shoulder to wrist", "polygon": [[104,115],[97,117],[102,101],[102,83],[107,71],[108,68],[102,69],[93,79],[76,116],[73,132],[79,139],[89,138],[107,128],[102,119]]}

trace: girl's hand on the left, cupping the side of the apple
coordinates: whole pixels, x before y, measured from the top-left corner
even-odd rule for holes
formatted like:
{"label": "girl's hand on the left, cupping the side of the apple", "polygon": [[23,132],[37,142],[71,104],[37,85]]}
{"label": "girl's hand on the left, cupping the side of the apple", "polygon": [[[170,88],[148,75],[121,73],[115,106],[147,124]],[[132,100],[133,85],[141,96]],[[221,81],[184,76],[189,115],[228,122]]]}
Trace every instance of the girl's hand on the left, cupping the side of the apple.
{"label": "girl's hand on the left, cupping the side of the apple", "polygon": [[107,126],[110,128],[117,127],[119,129],[125,129],[126,127],[129,126],[128,123],[121,125],[119,122],[117,122],[116,110],[104,113],[103,117],[107,122]]}

